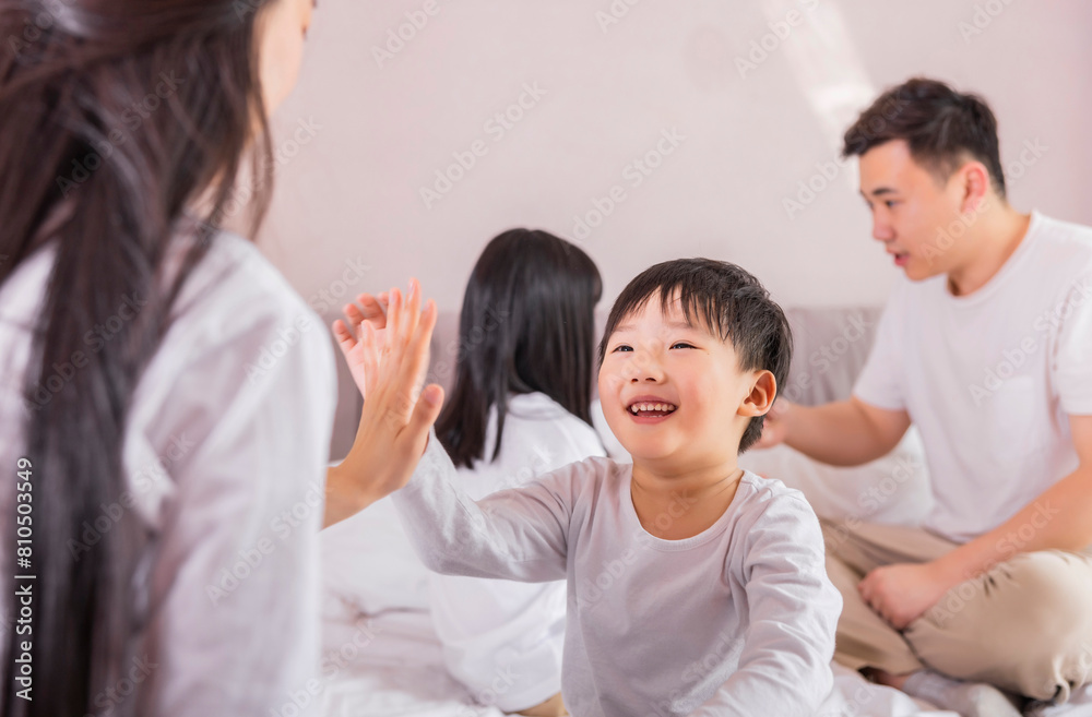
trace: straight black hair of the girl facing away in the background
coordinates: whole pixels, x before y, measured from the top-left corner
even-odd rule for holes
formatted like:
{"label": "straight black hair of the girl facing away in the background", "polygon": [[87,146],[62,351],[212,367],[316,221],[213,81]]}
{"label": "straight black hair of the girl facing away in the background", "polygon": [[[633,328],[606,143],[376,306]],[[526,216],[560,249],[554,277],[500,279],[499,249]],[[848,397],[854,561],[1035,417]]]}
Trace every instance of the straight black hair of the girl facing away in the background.
{"label": "straight black hair of the girl facing away in the background", "polygon": [[600,272],[573,244],[545,231],[511,229],[482,252],[463,297],[455,386],[436,433],[456,466],[486,455],[497,407],[497,458],[508,394],[541,392],[591,425],[595,304]]}

